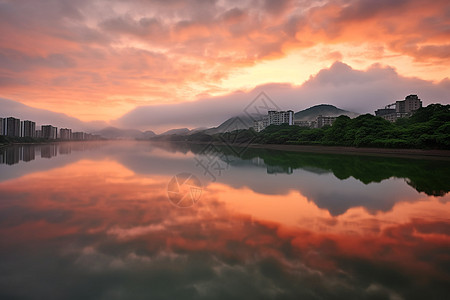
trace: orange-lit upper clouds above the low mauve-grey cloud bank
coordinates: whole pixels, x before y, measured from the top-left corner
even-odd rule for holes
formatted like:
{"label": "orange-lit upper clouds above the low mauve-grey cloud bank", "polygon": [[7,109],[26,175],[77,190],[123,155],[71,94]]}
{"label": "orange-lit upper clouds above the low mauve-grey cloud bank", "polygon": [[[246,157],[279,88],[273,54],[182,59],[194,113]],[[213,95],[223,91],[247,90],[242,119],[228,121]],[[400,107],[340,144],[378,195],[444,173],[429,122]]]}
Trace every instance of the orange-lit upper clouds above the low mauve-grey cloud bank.
{"label": "orange-lit upper clouds above the low mauve-grey cloud bank", "polygon": [[236,74],[295,51],[316,66],[390,59],[408,70],[410,62],[423,72],[409,75],[440,68],[433,78],[441,80],[449,14],[444,0],[4,0],[0,96],[108,120],[140,105],[232,92],[239,86],[224,82]]}

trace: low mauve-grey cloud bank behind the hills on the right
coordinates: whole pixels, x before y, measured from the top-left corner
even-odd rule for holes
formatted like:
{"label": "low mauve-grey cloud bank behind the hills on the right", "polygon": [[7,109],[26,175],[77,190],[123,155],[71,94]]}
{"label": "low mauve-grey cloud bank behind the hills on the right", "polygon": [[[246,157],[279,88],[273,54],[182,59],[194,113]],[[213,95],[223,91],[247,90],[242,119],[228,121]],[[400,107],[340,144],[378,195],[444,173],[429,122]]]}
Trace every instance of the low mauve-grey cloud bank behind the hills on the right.
{"label": "low mauve-grey cloud bank behind the hills on the right", "polygon": [[[140,106],[114,122],[121,127],[162,131],[176,127],[217,126],[229,117],[243,115],[252,101],[264,92],[280,109],[303,110],[316,104],[333,104],[358,113],[374,113],[380,107],[418,94],[424,105],[448,103],[450,81],[440,83],[406,78],[390,67],[373,65],[365,71],[336,62],[301,86],[267,84],[246,92],[198,101]],[[257,102],[258,103],[258,102]]]}

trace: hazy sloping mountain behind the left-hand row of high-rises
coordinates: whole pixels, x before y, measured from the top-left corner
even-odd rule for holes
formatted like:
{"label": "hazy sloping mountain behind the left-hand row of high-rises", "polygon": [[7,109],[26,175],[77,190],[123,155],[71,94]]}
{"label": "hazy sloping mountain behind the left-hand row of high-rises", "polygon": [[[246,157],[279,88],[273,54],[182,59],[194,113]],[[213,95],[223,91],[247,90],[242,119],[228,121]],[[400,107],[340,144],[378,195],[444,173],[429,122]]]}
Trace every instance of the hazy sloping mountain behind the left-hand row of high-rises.
{"label": "hazy sloping mountain behind the left-hand row of high-rises", "polygon": [[63,113],[56,113],[46,109],[34,108],[17,101],[0,98],[0,118],[15,117],[21,120],[36,122],[36,126],[53,125],[58,128],[71,128],[72,131],[98,130],[107,126],[106,122],[83,122]]}

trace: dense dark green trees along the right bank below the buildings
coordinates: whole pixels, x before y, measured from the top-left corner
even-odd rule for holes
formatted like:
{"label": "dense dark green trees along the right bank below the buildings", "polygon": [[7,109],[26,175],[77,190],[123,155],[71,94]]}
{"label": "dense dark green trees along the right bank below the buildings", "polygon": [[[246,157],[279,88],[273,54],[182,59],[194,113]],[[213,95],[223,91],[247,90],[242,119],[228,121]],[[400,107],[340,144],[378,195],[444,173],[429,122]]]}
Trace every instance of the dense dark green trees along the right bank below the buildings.
{"label": "dense dark green trees along the right bank below the buildings", "polygon": [[333,145],[350,147],[450,149],[450,105],[431,104],[410,118],[386,121],[370,114],[351,119],[340,116],[333,126],[307,128],[271,125],[256,133],[253,129],[229,133],[192,135],[190,141],[230,143]]}

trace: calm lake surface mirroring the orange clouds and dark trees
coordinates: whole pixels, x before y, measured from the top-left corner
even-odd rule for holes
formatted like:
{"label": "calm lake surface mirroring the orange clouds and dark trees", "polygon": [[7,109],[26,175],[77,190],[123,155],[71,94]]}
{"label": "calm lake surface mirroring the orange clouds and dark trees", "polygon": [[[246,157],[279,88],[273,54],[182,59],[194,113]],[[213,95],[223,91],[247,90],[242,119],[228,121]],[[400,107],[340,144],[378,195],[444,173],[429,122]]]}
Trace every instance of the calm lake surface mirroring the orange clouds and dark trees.
{"label": "calm lake surface mirroring the orange clouds and dark trees", "polygon": [[0,299],[449,299],[448,160],[205,147],[0,149]]}

